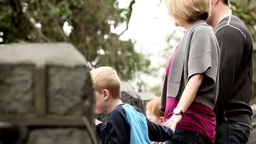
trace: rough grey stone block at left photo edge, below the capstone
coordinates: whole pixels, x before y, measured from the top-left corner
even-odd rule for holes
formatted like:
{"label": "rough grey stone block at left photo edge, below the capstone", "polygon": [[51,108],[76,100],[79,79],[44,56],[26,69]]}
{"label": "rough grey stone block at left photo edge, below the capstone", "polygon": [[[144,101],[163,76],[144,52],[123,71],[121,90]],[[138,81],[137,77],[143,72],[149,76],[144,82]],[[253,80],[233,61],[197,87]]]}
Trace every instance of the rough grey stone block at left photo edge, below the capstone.
{"label": "rough grey stone block at left photo edge, below the capstone", "polygon": [[0,65],[0,114],[34,113],[33,65]]}

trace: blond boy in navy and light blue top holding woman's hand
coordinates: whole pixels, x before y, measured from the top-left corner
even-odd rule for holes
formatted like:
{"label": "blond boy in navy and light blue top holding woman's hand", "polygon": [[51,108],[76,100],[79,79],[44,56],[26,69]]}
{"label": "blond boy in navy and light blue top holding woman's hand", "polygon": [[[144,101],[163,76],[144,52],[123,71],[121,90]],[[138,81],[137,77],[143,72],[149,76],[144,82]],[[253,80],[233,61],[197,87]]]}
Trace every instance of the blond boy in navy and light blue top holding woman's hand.
{"label": "blond boy in navy and light blue top holding woman's hand", "polygon": [[172,139],[176,124],[162,127],[148,121],[143,113],[129,104],[123,104],[120,97],[120,80],[117,72],[110,67],[91,71],[95,88],[96,113],[106,111],[108,119],[101,123],[95,119],[97,133],[102,143],[147,144],[150,141]]}

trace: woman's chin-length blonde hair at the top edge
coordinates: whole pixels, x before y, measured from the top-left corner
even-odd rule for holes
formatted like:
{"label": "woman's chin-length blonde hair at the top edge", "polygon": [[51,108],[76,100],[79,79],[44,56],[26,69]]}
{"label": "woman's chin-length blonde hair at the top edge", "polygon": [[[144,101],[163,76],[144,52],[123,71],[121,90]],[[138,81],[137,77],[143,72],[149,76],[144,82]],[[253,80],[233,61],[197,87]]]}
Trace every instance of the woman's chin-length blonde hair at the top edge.
{"label": "woman's chin-length blonde hair at the top edge", "polygon": [[176,22],[206,20],[211,11],[211,0],[165,0],[168,14]]}

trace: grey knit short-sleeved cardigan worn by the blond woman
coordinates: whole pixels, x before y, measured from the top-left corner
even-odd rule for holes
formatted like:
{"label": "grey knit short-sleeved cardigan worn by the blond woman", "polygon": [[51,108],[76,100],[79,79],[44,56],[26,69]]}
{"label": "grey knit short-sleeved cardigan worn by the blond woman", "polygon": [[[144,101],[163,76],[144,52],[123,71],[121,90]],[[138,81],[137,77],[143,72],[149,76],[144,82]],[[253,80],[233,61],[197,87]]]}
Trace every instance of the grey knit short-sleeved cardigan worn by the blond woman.
{"label": "grey knit short-sleeved cardigan worn by the blond woman", "polygon": [[165,112],[166,97],[180,99],[190,77],[205,73],[195,102],[213,109],[219,89],[220,51],[211,26],[199,20],[184,34],[174,54],[169,79],[165,75],[160,109]]}

